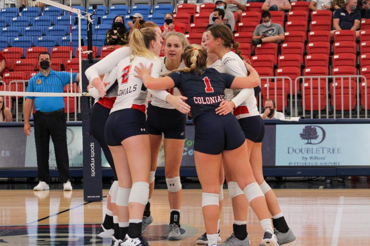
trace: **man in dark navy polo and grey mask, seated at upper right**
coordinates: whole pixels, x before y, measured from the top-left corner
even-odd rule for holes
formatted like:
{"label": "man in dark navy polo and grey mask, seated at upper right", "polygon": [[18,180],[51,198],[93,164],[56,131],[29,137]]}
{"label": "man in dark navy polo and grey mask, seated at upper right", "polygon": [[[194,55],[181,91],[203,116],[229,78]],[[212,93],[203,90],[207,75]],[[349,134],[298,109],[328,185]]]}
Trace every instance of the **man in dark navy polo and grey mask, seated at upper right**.
{"label": "man in dark navy polo and grey mask, seated at upper right", "polygon": [[356,37],[359,37],[361,13],[357,8],[357,0],[346,0],[346,7],[339,8],[333,14],[333,28],[331,31],[332,37],[335,31],[353,30],[356,31]]}

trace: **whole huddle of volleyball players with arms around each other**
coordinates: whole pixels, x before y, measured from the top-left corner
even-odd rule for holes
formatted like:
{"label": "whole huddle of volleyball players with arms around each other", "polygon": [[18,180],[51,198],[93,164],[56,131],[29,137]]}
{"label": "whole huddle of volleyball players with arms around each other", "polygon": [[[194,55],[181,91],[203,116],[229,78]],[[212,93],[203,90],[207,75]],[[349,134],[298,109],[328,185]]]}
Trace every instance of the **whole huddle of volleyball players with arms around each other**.
{"label": "whole huddle of volleyball players with arms around each other", "polygon": [[[115,176],[98,236],[111,238],[114,246],[149,245],[142,234],[153,222],[151,197],[164,134],[171,209],[168,240],[181,240],[179,170],[186,113],[190,113],[195,125],[194,158],[202,186],[206,230],[196,243],[250,245],[246,229],[248,202],[264,230],[260,246],[294,241],[276,196],[263,179],[265,127],[256,106],[259,76],[248,59],[243,61],[232,32],[225,25],[213,25],[203,34],[201,45],[189,45],[184,34],[168,33],[166,56],[159,58],[162,42],[157,25],[137,22],[128,46],[85,72],[88,91],[96,102],[90,130]],[[219,218],[225,177],[235,222],[232,235],[218,244],[222,241]]]}

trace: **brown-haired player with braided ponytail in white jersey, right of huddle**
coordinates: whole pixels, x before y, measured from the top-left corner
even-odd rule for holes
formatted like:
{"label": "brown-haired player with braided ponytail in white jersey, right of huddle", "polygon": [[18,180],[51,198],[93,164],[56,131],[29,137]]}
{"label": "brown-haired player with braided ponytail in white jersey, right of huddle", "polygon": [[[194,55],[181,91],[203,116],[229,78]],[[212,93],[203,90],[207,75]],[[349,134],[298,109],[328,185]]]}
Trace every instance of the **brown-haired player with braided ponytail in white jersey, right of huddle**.
{"label": "brown-haired player with braided ponytail in white jersey, right of huddle", "polygon": [[[228,74],[235,76],[245,75],[246,68],[242,61],[243,58],[240,57],[240,51],[235,54],[230,50],[231,47],[234,47],[237,51],[239,45],[233,41],[231,31],[220,26],[213,26],[207,30],[205,44],[208,46],[208,52],[216,54],[221,59]],[[237,90],[234,90],[233,93],[228,94],[231,96],[220,105],[216,113],[223,115],[233,110],[246,137],[253,175],[265,194],[269,211],[273,215],[273,225],[278,243],[292,242],[295,240],[295,236],[287,226],[275,194],[263,178],[262,140],[265,135],[265,124],[259,116],[255,91],[249,89],[249,92],[247,91],[244,95],[242,95],[241,91],[238,93]],[[235,182],[236,178],[228,171],[228,168],[225,168],[225,174],[228,181],[229,194],[232,198],[235,223],[233,225],[234,233],[221,245],[249,245],[248,233],[246,231],[247,201],[242,196],[242,190]]]}

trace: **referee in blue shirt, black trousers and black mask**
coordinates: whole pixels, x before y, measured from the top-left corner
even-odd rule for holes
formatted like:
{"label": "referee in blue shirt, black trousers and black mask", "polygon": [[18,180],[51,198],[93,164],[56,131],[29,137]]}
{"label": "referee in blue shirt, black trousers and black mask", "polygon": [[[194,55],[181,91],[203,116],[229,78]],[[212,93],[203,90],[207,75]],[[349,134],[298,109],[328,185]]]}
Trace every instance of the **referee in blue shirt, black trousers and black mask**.
{"label": "referee in blue shirt, black trousers and black mask", "polygon": [[[70,73],[56,72],[50,68],[51,57],[48,52],[38,55],[41,71],[28,82],[27,92],[63,93],[64,86],[70,83]],[[72,74],[72,81],[78,82],[78,74]],[[36,113],[33,116],[37,176],[40,181],[34,191],[49,189],[49,143],[50,136],[54,143],[55,158],[57,162],[60,181],[65,191],[71,191],[71,175],[69,172],[69,159],[67,150],[67,124],[64,113],[63,97],[26,96],[24,104],[24,133],[30,136],[30,115],[33,100]]]}

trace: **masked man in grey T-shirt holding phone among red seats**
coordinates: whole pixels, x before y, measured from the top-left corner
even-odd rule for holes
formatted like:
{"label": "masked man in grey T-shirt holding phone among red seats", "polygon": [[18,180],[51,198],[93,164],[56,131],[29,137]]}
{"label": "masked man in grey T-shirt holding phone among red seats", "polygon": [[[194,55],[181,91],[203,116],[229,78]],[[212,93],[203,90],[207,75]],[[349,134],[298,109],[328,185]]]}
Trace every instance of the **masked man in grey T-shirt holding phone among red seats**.
{"label": "masked man in grey T-shirt holding phone among red seats", "polygon": [[269,11],[263,12],[262,24],[256,26],[253,32],[252,45],[262,43],[276,43],[284,41],[284,29],[280,24],[272,23],[271,14]]}

